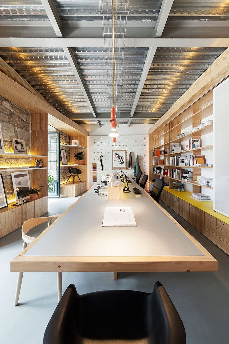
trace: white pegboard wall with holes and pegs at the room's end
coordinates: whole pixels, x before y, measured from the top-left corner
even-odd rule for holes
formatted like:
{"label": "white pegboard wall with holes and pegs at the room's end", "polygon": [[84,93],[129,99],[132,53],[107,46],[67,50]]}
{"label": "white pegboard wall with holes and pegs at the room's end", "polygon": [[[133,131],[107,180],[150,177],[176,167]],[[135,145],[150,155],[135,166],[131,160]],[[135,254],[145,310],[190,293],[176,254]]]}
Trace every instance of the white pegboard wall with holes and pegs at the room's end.
{"label": "white pegboard wall with holes and pegs at the room's end", "polygon": [[[97,180],[102,178],[102,175],[112,174],[115,170],[112,170],[112,150],[113,149],[125,149],[127,153],[127,166],[129,153],[131,152],[133,169],[124,170],[125,173],[133,177],[134,165],[136,156],[138,155],[138,161],[141,167],[142,173],[148,174],[148,136],[147,135],[121,135],[117,138],[118,147],[112,147],[112,138],[109,136],[89,136],[89,148],[88,148],[88,171],[89,182],[92,183],[92,163],[97,163]],[[101,169],[100,155],[103,155],[103,170]]]}

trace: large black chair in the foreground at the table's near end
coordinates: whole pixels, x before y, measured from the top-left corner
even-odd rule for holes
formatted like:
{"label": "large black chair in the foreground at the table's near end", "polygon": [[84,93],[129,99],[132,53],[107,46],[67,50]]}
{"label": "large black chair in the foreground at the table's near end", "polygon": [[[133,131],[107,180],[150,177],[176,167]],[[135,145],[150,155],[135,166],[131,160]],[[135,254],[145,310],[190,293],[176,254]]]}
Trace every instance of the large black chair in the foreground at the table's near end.
{"label": "large black chair in the foreground at the table's near end", "polygon": [[79,295],[70,284],[46,327],[43,344],[185,344],[183,322],[160,282],[152,293],[129,290]]}

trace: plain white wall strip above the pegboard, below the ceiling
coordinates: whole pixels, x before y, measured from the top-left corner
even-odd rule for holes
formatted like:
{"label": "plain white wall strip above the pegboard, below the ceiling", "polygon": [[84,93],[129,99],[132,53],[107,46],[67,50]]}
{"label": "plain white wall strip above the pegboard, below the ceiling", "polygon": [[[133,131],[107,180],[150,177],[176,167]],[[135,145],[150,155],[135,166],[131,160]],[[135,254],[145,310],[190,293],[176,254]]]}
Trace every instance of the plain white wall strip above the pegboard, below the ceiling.
{"label": "plain white wall strip above the pegboard, below the ceiling", "polygon": [[[127,124],[121,124],[117,131],[120,135],[148,135],[148,130],[153,126],[153,124],[133,124],[127,128]],[[108,135],[111,132],[110,124],[102,125],[101,128],[94,124],[81,125],[81,127],[89,131],[89,136]]]}

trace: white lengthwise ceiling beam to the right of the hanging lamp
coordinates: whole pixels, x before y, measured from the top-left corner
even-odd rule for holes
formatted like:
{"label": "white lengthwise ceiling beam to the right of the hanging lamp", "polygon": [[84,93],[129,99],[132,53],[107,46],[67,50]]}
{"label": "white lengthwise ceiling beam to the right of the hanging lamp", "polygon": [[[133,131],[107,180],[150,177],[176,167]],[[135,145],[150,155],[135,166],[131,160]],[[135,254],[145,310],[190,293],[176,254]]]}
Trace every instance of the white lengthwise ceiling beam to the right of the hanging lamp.
{"label": "white lengthwise ceiling beam to the right of the hanging lamp", "polygon": [[[168,16],[169,16],[172,4],[173,4],[173,0],[163,0],[162,1],[161,9],[160,9],[160,12],[159,12],[159,15],[158,15],[158,20],[157,20],[157,23],[156,23],[156,26],[155,26],[156,37],[161,37],[161,35],[162,35],[162,32],[163,32],[165,24],[167,22],[167,19],[168,19]],[[136,95],[135,95],[135,98],[134,98],[134,102],[133,102],[133,105],[132,105],[132,108],[131,108],[131,111],[130,111],[130,119],[128,121],[127,128],[130,126],[131,117],[133,117],[133,115],[134,115],[134,111],[135,111],[136,106],[138,104],[138,100],[140,98],[142,88],[145,85],[145,81],[146,81],[146,78],[147,78],[147,75],[148,75],[151,63],[153,61],[153,57],[154,57],[154,55],[156,53],[156,50],[157,50],[157,47],[150,47],[149,48],[149,51],[148,51],[148,54],[147,54],[147,57],[146,57],[146,61],[145,61],[145,64],[144,64],[144,67],[143,67],[143,70],[142,70],[142,73],[141,73],[141,78],[140,78],[140,81],[139,81],[139,84],[138,84],[137,92],[136,92]]]}

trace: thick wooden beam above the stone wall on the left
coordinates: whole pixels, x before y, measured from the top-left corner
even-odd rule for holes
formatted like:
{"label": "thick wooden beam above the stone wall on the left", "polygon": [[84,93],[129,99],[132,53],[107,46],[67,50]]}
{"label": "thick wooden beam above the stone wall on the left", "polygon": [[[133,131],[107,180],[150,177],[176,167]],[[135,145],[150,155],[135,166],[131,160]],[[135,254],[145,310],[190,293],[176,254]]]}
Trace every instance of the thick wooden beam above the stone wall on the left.
{"label": "thick wooden beam above the stone wall on the left", "polygon": [[0,72],[0,95],[29,112],[47,112],[48,123],[68,135],[89,135],[87,130],[2,72]]}

